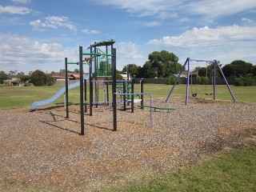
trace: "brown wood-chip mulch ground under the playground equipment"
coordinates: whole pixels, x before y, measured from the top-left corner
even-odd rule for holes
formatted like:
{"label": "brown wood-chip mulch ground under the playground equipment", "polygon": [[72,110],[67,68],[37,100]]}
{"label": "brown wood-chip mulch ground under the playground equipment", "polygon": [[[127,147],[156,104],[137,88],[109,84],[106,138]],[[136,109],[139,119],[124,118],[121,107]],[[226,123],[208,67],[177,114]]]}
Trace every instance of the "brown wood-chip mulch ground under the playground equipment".
{"label": "brown wood-chip mulch ground under the playground equipment", "polygon": [[[198,162],[202,155],[242,147],[256,134],[256,104],[191,98],[155,99],[153,112],[118,105],[118,131],[110,106],[85,115],[80,135],[79,106],[0,110],[0,191],[106,190]],[[149,105],[149,101],[145,102]]]}

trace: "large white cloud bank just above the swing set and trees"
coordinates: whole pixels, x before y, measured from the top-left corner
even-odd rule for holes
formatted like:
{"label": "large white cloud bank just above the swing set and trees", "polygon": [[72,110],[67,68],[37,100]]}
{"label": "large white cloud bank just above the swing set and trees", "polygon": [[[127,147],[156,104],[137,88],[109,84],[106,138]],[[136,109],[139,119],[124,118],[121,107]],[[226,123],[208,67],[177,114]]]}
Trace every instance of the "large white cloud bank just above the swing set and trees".
{"label": "large white cloud bank just above the swing set and trees", "polygon": [[[256,27],[222,26],[218,28],[194,27],[177,36],[153,39],[148,45],[170,50],[180,61],[186,58],[230,63],[236,59],[251,62],[256,59]],[[156,47],[154,47],[156,49]],[[248,60],[251,59],[251,60]]]}

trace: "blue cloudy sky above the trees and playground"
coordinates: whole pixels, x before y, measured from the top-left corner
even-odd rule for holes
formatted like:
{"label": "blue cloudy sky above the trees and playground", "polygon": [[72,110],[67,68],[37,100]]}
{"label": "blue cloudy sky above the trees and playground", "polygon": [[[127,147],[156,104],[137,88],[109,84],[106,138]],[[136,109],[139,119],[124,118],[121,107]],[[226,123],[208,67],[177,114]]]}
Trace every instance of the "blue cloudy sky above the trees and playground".
{"label": "blue cloudy sky above the trees and playground", "polygon": [[[1,0],[0,71],[64,69],[94,42],[114,39],[117,69],[153,51],[256,65],[255,0]],[[198,64],[197,64],[198,65]],[[199,63],[199,66],[205,63]],[[68,66],[69,70],[78,66]],[[86,69],[85,69],[86,70]]]}

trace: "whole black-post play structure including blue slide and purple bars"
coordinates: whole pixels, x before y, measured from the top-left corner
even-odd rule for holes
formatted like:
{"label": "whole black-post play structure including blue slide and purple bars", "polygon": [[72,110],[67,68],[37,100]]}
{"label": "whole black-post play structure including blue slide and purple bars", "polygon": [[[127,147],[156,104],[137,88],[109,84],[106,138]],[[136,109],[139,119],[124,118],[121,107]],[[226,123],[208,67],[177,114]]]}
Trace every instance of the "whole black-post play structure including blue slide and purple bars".
{"label": "whole black-post play structure including blue slide and purple bars", "polygon": [[[90,45],[90,53],[83,53],[82,46],[79,46],[79,61],[68,62],[65,58],[65,71],[66,71],[66,86],[61,90],[58,90],[53,97],[44,101],[34,102],[31,106],[31,110],[36,110],[38,106],[46,106],[51,102],[54,102],[62,94],[65,94],[65,106],[66,106],[66,118],[69,118],[69,90],[80,87],[80,119],[81,119],[81,131],[80,134],[85,134],[85,117],[87,112],[87,105],[89,105],[89,115],[93,114],[93,106],[109,105],[111,103],[113,110],[113,130],[117,130],[117,103],[123,102],[123,110],[126,110],[126,105],[131,105],[131,113],[134,113],[134,102],[140,102],[140,109],[150,107],[150,126],[153,126],[152,110],[174,110],[171,108],[156,107],[151,104],[151,95],[143,93],[143,79],[140,80],[140,93],[134,93],[134,79],[117,80],[116,79],[116,49],[113,47],[114,40],[104,42],[94,42]],[[98,47],[105,46],[105,52]],[[110,48],[109,48],[110,46]],[[109,50],[111,53],[109,54]],[[86,56],[86,58],[83,58]],[[80,81],[74,84],[68,85],[67,66],[69,64],[79,65]],[[89,74],[85,76],[83,73],[83,66],[89,65]],[[89,102],[87,101],[87,81],[89,81]],[[99,101],[99,84],[104,86],[104,102]],[[112,85],[112,100],[110,100],[109,85]],[[150,106],[143,105],[143,96],[150,96]],[[134,99],[134,97],[139,97]],[[119,100],[118,100],[119,97]]]}

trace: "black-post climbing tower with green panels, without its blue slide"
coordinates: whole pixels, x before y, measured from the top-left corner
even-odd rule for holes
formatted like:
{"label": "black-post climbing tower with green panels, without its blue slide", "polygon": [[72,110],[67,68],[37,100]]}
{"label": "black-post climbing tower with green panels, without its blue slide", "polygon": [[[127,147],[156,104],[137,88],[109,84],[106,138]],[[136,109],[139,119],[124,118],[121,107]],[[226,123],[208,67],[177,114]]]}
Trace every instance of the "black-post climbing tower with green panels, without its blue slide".
{"label": "black-post climbing tower with green panels, without its blue slide", "polygon": [[[80,77],[83,75],[83,64],[87,62],[89,64],[89,78],[80,78],[80,118],[81,118],[81,135],[85,134],[84,127],[84,113],[87,112],[87,105],[89,105],[89,115],[92,116],[93,106],[109,103],[112,104],[113,109],[113,130],[117,130],[117,103],[123,102],[124,110],[126,110],[126,104],[131,103],[131,113],[134,113],[134,95],[141,95],[141,98],[137,100],[143,105],[143,94],[134,94],[134,80],[117,80],[116,79],[116,49],[113,47],[114,40],[106,42],[94,42],[94,45],[88,47],[90,53],[83,53],[82,46],[79,46],[79,62],[67,62],[65,58],[65,67],[67,71],[68,64],[77,63],[79,65]],[[103,52],[98,47],[105,46],[106,52]],[[108,54],[109,47],[111,54]],[[89,58],[82,58],[83,56],[89,56]],[[87,102],[86,98],[86,81],[89,80],[89,93],[90,98]],[[98,99],[98,85],[102,82],[104,86],[104,102],[100,102]],[[117,82],[119,88],[117,92]],[[109,96],[109,84],[112,84],[112,100]],[[83,86],[84,85],[84,86]],[[131,86],[129,86],[131,85]],[[143,90],[143,81],[141,83],[141,91]],[[69,106],[68,106],[68,80],[66,74],[66,118],[69,118]],[[121,95],[120,100],[117,100],[117,95]],[[151,116],[150,116],[151,119]],[[150,121],[152,122],[152,120]],[[151,123],[152,124],[152,123]]]}

